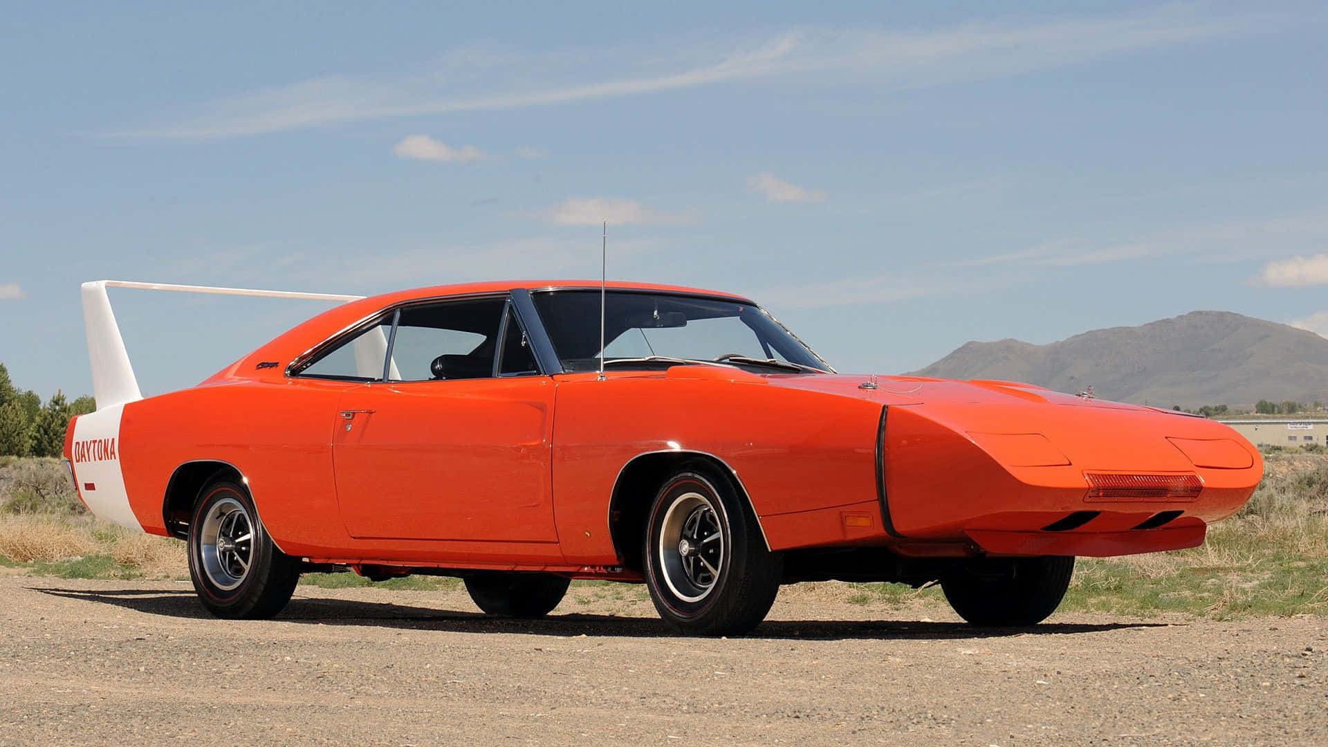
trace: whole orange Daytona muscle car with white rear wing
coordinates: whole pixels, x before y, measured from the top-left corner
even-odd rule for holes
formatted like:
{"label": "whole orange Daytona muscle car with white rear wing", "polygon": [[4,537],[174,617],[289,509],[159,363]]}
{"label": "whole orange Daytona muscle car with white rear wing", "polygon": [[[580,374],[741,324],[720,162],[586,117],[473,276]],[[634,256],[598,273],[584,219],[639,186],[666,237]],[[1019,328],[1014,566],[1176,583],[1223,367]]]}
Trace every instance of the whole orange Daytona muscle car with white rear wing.
{"label": "whole orange Daytona muscle car with white rear wing", "polygon": [[[100,409],[65,457],[98,516],[189,544],[224,618],[301,572],[465,580],[490,614],[644,582],[692,634],[781,584],[939,582],[1032,625],[1076,556],[1193,548],[1263,473],[1226,425],[1009,381],[842,375],[741,296],[506,282],[349,300],[197,387],[138,393],[84,286]],[[356,296],[284,294],[345,300]]]}

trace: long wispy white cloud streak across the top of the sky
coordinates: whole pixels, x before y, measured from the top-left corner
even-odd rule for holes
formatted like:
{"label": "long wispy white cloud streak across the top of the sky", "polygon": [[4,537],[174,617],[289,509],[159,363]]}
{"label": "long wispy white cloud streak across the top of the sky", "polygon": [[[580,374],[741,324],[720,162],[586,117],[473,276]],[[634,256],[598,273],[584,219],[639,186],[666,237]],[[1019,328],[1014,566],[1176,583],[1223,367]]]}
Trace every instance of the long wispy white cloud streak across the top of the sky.
{"label": "long wispy white cloud streak across the top of the sky", "polygon": [[[772,76],[858,78],[874,93],[1015,76],[1142,49],[1248,33],[1263,17],[1187,5],[1025,24],[935,29],[793,28],[550,53],[478,47],[389,77],[323,76],[202,104],[112,137],[208,140],[337,122],[550,106]],[[622,70],[603,78],[603,70]]]}

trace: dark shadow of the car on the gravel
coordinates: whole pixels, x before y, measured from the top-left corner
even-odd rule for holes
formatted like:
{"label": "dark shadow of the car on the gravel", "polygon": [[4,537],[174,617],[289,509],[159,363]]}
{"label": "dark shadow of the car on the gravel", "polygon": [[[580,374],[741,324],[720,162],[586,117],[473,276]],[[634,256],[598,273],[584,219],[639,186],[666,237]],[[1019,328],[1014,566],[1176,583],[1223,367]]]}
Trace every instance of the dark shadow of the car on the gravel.
{"label": "dark shadow of the car on the gravel", "polygon": [[[191,590],[161,589],[41,589],[33,591],[113,605],[145,614],[174,618],[214,619]],[[481,613],[449,611],[394,602],[365,602],[357,599],[331,599],[296,595],[274,622],[308,625],[376,626],[406,630],[437,630],[442,633],[518,633],[555,637],[676,637],[672,629],[656,617],[619,617],[606,614],[554,614],[542,619],[495,618]],[[242,623],[244,625],[244,623]],[[1008,638],[1013,635],[1070,635],[1167,627],[1169,623],[1110,622],[1072,623],[1050,622],[1028,627],[979,629],[961,622],[915,622],[894,619],[823,621],[823,619],[768,619],[744,638],[838,641],[838,639],[975,639]]]}

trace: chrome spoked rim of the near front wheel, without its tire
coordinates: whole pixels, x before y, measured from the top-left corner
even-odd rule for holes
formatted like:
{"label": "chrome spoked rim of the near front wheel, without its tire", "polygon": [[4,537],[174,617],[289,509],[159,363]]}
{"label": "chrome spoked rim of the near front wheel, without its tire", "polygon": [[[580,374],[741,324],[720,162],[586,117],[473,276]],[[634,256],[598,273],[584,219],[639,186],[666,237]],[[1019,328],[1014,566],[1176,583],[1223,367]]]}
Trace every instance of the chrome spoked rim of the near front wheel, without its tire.
{"label": "chrome spoked rim of the near front wheel, without its tire", "polygon": [[664,584],[679,599],[700,602],[724,573],[724,525],[714,501],[701,493],[673,498],[660,528],[659,554]]}

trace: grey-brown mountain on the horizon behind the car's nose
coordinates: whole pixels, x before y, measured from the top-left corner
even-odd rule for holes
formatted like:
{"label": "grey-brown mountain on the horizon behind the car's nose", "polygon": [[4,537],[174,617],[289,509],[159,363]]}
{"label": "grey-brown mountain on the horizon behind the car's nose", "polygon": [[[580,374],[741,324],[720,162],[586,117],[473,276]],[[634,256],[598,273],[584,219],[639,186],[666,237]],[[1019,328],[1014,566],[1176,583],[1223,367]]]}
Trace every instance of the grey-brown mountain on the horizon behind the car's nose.
{"label": "grey-brown mountain on the horizon behind the car's nose", "polygon": [[1328,401],[1328,339],[1228,311],[1193,311],[1045,346],[971,342],[912,375],[1027,381],[1070,393],[1092,384],[1102,399],[1155,407]]}

